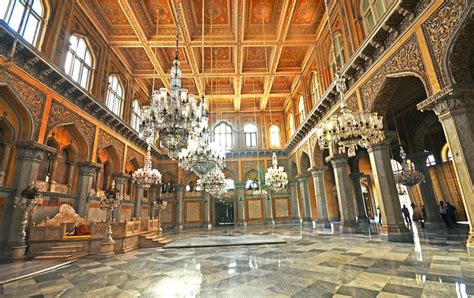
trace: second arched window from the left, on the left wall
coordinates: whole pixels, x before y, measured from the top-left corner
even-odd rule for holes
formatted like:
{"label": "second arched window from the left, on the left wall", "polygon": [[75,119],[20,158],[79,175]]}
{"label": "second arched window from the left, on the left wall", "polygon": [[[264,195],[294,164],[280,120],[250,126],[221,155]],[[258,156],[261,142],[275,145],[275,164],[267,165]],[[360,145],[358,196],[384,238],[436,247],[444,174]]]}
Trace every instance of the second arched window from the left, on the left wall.
{"label": "second arched window from the left, on the left wall", "polygon": [[82,88],[89,90],[92,76],[92,54],[84,38],[71,35],[64,71]]}

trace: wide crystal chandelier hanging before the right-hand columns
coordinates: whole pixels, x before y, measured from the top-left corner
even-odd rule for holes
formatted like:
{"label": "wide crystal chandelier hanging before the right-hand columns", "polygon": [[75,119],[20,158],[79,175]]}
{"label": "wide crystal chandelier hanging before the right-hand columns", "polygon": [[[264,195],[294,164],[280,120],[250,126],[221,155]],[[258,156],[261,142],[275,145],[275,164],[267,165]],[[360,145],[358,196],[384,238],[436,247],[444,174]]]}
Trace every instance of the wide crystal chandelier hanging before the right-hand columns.
{"label": "wide crystal chandelier hanging before the right-hand columns", "polygon": [[346,153],[349,157],[356,155],[357,147],[369,148],[385,139],[383,133],[382,116],[377,113],[353,112],[344,99],[347,91],[343,77],[336,74],[336,89],[341,97],[341,110],[337,115],[318,125],[316,136],[321,149],[329,148],[335,143],[339,153]]}

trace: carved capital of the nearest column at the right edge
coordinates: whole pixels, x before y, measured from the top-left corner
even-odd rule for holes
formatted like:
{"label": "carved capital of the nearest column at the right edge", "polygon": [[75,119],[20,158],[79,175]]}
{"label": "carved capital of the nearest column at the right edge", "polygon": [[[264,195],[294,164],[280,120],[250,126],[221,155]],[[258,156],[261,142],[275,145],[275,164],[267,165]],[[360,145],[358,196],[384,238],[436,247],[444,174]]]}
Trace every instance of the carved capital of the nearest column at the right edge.
{"label": "carved capital of the nearest column at the right edge", "polygon": [[474,89],[461,85],[450,85],[436,94],[417,104],[418,110],[432,110],[443,118],[444,116],[467,108],[474,108],[472,98]]}

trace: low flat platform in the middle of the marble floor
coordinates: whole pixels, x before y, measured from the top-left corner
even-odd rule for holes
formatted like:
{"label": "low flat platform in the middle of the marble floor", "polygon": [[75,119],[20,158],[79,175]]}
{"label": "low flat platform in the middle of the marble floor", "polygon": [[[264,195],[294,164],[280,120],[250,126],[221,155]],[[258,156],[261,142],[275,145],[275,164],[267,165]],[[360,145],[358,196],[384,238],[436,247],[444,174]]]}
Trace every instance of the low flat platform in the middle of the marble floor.
{"label": "low flat platform in the middle of the marble floor", "polygon": [[240,246],[283,244],[286,241],[276,235],[255,235],[240,233],[225,233],[223,235],[200,235],[199,237],[176,239],[163,248],[192,248],[214,246]]}

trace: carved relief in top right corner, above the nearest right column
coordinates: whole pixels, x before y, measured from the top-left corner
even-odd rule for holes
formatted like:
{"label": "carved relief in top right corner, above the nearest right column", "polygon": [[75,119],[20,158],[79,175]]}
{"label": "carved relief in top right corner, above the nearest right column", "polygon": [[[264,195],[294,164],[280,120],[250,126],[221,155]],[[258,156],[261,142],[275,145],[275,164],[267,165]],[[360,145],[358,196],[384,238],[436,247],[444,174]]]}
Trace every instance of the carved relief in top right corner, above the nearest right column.
{"label": "carved relief in top right corner, above the nearest right column", "polygon": [[[463,12],[469,0],[447,0],[444,1],[431,17],[422,25],[423,33],[428,42],[428,48],[435,65],[438,80],[443,86],[450,82],[449,76],[441,73],[446,66],[444,59],[447,57],[450,43],[455,40],[455,30],[460,26]],[[471,40],[472,42],[472,40]]]}

